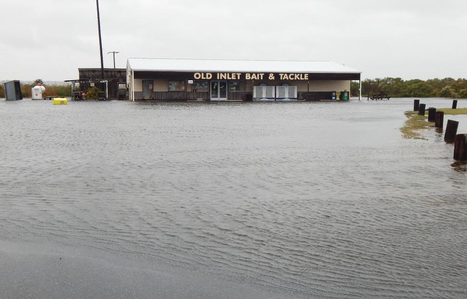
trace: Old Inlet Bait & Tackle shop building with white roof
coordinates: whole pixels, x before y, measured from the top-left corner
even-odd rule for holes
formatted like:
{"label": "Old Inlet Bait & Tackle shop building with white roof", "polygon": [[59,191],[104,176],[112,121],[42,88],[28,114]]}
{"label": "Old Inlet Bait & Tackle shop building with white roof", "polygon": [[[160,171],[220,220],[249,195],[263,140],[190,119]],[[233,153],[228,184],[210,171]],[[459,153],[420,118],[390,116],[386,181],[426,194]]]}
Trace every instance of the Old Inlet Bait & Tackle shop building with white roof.
{"label": "Old Inlet Bait & Tackle shop building with white roof", "polygon": [[127,62],[131,101],[333,101],[350,91],[350,81],[360,81],[360,74],[332,61],[129,58]]}

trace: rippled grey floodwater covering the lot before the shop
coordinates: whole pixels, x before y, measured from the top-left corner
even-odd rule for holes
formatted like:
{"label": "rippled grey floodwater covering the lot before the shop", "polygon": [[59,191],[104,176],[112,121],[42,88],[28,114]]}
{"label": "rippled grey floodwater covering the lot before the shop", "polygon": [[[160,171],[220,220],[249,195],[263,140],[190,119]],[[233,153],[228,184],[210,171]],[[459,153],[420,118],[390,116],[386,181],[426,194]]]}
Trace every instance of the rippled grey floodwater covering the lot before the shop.
{"label": "rippled grey floodwater covering the lot before the shop", "polygon": [[467,167],[402,138],[412,107],[0,101],[0,240],[283,298],[467,298]]}

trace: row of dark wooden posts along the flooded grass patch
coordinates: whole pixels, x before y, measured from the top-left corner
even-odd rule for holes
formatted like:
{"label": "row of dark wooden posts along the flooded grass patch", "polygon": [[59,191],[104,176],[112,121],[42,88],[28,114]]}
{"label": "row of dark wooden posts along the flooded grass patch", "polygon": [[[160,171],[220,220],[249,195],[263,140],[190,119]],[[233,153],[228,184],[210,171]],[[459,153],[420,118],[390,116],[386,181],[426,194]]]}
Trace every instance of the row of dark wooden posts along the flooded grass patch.
{"label": "row of dark wooden posts along the flooded grass patch", "polygon": [[[457,100],[452,101],[452,109],[457,108]],[[418,111],[418,115],[425,115],[426,105],[420,104],[420,100],[413,100],[413,111]],[[434,122],[437,128],[443,128],[444,111],[436,111],[436,108],[428,108],[428,121]],[[454,142],[454,159],[457,161],[467,160],[467,134],[457,134],[459,122],[448,120],[444,141]]]}

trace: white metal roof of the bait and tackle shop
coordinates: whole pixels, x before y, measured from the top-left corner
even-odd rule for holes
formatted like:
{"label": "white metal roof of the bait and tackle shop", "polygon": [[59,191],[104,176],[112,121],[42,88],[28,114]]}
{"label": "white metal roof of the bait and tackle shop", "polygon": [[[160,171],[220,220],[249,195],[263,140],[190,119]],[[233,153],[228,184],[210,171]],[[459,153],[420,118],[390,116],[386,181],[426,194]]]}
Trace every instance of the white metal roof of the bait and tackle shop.
{"label": "white metal roof of the bait and tackle shop", "polygon": [[129,58],[136,71],[361,73],[332,61]]}

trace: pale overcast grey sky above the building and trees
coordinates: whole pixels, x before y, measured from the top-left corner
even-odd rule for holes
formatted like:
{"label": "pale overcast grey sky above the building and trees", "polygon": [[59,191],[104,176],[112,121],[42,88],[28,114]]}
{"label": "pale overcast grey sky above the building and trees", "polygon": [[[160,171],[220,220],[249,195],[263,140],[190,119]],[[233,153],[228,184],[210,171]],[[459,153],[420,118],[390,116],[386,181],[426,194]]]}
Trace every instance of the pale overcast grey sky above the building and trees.
{"label": "pale overcast grey sky above the building and trees", "polygon": [[[363,78],[467,77],[465,0],[100,0],[104,67],[128,57],[333,60]],[[0,80],[100,67],[95,0],[1,1]]]}

